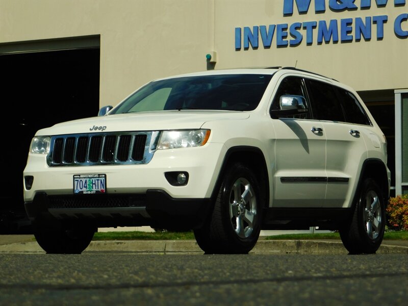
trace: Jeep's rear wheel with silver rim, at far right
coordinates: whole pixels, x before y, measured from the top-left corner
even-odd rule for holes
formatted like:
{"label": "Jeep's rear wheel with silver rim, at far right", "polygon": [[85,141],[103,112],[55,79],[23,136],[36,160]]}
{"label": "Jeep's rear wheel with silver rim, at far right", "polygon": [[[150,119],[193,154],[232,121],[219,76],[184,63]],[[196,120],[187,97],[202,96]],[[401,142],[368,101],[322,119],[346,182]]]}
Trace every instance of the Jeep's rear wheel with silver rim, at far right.
{"label": "Jeep's rear wheel with silver rim, at far right", "polygon": [[381,189],[372,179],[363,182],[351,222],[340,237],[350,254],[374,254],[384,238],[386,210]]}

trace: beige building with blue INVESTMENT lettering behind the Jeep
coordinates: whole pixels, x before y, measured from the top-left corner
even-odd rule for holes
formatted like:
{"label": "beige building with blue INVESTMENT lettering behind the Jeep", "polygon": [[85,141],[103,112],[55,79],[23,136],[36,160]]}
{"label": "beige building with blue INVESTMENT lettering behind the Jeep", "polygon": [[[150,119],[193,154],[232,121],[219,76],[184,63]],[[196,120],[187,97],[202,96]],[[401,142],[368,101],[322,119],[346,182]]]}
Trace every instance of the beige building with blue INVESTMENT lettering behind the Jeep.
{"label": "beige building with blue INVESTMENT lettering behind the Jeep", "polygon": [[3,116],[28,139],[152,79],[270,66],[358,91],[408,194],[408,0],[0,0]]}

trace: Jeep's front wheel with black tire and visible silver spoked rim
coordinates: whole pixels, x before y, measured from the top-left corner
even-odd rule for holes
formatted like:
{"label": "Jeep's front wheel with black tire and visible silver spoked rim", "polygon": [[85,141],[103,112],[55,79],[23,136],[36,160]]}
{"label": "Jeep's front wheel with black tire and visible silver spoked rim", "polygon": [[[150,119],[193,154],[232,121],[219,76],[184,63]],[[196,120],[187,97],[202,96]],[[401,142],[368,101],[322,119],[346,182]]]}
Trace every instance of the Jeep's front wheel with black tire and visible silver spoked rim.
{"label": "Jeep's front wheel with black tire and visible silver spoked rim", "polygon": [[194,236],[206,254],[245,254],[258,241],[261,220],[258,180],[251,169],[235,163],[225,172],[211,219]]}

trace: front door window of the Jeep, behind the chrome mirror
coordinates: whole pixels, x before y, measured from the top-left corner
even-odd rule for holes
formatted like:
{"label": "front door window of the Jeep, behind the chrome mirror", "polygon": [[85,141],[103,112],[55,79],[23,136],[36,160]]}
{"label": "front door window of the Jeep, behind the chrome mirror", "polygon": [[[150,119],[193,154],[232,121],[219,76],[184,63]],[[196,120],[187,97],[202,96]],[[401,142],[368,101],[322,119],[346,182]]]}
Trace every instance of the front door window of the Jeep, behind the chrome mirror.
{"label": "front door window of the Jeep, behind the chrome mirror", "polygon": [[[275,97],[273,98],[272,101],[272,109],[273,110],[278,110],[279,109],[279,100],[281,99],[281,96],[283,95],[299,95],[303,96],[305,100],[307,100],[307,95],[306,95],[306,90],[304,88],[302,78],[298,77],[288,77],[285,78],[281,84],[279,84],[279,87],[276,91]],[[307,107],[309,107],[308,102]],[[301,119],[307,119],[310,118],[310,112],[305,113],[305,114],[300,114],[300,115],[295,115],[295,116],[282,116],[283,118],[301,118]]]}

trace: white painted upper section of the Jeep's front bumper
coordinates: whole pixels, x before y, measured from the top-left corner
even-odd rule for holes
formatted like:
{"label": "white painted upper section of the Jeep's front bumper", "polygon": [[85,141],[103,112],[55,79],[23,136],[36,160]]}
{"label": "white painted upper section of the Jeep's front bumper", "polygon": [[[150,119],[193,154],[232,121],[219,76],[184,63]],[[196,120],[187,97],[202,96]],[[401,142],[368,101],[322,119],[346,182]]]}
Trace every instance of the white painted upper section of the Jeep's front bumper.
{"label": "white painted upper section of the Jeep's front bumper", "polygon": [[[38,192],[47,195],[73,194],[73,175],[106,174],[107,194],[145,194],[163,190],[173,198],[210,198],[218,178],[225,148],[208,143],[202,147],[158,150],[147,164],[48,167],[46,157],[29,154],[24,177],[33,177],[31,188],[24,180],[24,202],[32,202]],[[173,186],[165,172],[189,174],[188,184]]]}

